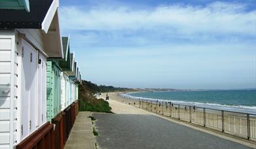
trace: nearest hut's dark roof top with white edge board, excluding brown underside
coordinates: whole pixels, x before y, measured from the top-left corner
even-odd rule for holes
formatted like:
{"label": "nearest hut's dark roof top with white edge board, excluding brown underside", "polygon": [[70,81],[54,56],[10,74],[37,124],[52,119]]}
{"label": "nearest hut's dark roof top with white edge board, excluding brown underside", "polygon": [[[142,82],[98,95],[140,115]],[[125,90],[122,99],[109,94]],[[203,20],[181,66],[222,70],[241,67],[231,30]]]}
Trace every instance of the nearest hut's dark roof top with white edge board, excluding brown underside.
{"label": "nearest hut's dark roof top with white edge board, excluding brown underside", "polygon": [[43,29],[47,32],[57,7],[58,1],[30,0],[29,12],[1,8],[0,14],[5,15],[1,15],[0,28]]}

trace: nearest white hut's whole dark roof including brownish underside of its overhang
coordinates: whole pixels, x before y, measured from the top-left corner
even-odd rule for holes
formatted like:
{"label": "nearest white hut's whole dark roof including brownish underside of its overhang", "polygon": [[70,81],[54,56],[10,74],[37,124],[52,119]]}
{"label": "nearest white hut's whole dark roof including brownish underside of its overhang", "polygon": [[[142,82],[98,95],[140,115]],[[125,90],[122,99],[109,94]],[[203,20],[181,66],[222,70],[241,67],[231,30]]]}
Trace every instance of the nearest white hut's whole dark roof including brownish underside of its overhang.
{"label": "nearest white hut's whole dark roof including brownish underside of its overhang", "polygon": [[26,10],[0,9],[0,29],[41,29],[44,52],[50,58],[64,58],[58,0],[30,0]]}

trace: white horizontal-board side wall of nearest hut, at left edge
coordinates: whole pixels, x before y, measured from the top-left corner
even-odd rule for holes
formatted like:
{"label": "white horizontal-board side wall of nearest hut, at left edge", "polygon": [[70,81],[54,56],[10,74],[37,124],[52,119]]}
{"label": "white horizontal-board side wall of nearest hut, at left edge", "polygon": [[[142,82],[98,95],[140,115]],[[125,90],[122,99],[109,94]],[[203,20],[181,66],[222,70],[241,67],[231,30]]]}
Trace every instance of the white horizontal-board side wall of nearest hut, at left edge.
{"label": "white horizontal-board side wall of nearest hut, at left edge", "polygon": [[0,148],[12,148],[17,131],[17,52],[14,31],[0,30]]}

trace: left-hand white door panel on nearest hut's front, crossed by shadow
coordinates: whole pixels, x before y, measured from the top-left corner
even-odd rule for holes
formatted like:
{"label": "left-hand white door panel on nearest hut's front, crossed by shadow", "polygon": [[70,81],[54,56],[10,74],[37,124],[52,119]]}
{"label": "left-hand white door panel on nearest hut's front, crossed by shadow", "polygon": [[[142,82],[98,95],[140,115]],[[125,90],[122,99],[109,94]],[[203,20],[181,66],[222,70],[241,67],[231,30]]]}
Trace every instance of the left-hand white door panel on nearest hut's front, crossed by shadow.
{"label": "left-hand white door panel on nearest hut's front, crossed by shadow", "polygon": [[37,50],[22,39],[21,63],[21,137],[27,137],[35,130],[37,99]]}

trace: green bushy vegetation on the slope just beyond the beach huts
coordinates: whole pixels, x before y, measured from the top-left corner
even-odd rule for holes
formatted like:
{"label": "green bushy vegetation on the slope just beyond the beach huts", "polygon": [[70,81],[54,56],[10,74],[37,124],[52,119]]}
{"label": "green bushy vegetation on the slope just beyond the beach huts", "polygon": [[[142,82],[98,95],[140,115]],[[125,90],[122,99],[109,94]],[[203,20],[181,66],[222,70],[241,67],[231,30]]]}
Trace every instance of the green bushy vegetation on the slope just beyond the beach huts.
{"label": "green bushy vegetation on the slope just beyond the beach huts", "polygon": [[102,93],[107,91],[134,91],[129,88],[114,88],[113,86],[98,86],[92,82],[82,80],[79,84],[79,110],[92,112],[111,112],[109,103],[104,99],[96,99],[95,93]]}

